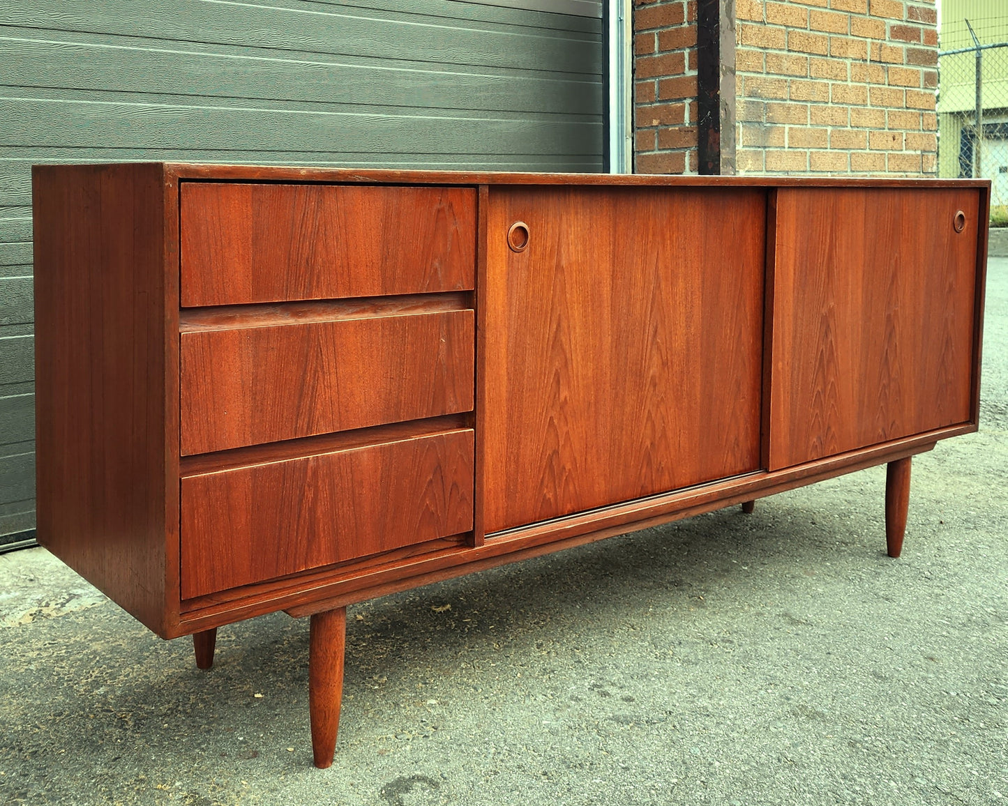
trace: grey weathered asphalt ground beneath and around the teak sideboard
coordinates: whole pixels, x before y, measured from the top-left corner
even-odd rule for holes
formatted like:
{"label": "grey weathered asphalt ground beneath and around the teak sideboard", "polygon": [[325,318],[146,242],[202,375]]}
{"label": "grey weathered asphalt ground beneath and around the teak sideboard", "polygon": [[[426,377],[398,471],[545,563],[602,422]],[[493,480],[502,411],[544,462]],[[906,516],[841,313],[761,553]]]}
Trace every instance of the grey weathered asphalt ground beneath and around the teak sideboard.
{"label": "grey weathered asphalt ground beneath and around the teak sideboard", "polygon": [[352,609],[336,763],[307,625],[200,672],[42,549],[0,556],[0,803],[1008,802],[1008,260],[979,434]]}

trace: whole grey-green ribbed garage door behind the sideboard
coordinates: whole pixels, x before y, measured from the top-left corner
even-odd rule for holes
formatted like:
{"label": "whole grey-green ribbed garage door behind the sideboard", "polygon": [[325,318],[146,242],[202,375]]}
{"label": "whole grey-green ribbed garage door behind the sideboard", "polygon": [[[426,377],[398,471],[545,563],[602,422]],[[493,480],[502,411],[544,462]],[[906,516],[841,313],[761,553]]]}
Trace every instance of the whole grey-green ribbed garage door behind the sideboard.
{"label": "whole grey-green ribbed garage door behind the sideboard", "polygon": [[0,0],[0,536],[34,527],[32,163],[601,170],[599,8]]}

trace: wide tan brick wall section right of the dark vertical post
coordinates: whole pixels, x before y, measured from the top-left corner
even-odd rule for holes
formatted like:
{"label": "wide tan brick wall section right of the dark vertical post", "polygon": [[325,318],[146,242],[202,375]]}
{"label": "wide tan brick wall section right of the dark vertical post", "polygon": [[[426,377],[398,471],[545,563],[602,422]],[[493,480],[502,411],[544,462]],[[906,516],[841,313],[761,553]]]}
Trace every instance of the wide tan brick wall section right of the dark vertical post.
{"label": "wide tan brick wall section right of the dark vertical post", "polygon": [[737,0],[739,173],[933,174],[933,0]]}

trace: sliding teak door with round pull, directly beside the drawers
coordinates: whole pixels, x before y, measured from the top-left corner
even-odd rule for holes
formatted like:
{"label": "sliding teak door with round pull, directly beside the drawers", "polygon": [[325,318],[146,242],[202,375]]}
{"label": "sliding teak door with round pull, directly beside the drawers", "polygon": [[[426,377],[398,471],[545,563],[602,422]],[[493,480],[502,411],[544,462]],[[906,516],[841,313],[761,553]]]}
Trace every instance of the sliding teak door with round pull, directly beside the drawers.
{"label": "sliding teak door with round pull, directly beside the drawers", "polygon": [[759,466],[764,206],[747,189],[490,188],[488,533]]}

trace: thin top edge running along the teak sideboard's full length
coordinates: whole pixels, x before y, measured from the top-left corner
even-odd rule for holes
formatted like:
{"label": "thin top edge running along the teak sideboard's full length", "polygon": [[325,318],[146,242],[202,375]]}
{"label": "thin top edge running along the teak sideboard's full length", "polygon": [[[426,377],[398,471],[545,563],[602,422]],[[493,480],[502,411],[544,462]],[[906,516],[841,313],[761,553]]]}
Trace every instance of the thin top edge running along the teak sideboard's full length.
{"label": "thin top edge running along the teak sideboard's full length", "polygon": [[[161,165],[165,178],[217,181],[375,182],[408,184],[570,184],[599,186],[729,187],[987,187],[990,179],[936,179],[861,176],[680,176],[656,173],[507,173],[500,171],[392,170],[279,165],[222,165],[148,162]],[[78,167],[88,167],[79,164]],[[91,167],[98,167],[97,164]],[[35,165],[66,170],[68,165]]]}

